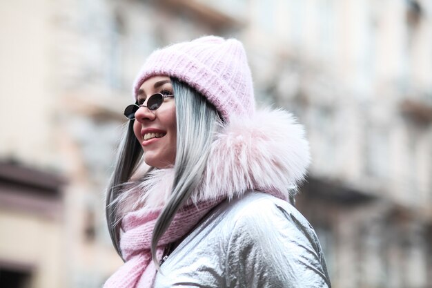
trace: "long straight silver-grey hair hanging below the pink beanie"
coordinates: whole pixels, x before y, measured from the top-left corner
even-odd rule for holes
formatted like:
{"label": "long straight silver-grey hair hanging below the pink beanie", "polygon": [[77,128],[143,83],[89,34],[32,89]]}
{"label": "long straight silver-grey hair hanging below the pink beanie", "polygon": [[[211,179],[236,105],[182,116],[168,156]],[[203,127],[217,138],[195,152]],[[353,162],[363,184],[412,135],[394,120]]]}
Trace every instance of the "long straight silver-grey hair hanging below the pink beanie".
{"label": "long straight silver-grey hair hanging below the pink beanie", "polygon": [[[210,144],[215,139],[215,132],[218,127],[222,126],[222,118],[205,97],[175,78],[171,78],[171,83],[175,94],[177,118],[175,176],[170,199],[157,218],[153,230],[151,251],[157,268],[159,268],[155,256],[157,242],[170,226],[175,213],[190,198],[191,193],[202,179],[210,153]],[[133,133],[134,121],[130,120],[119,146],[115,170],[112,173],[106,196],[108,231],[112,244],[122,259],[119,247],[120,215],[117,213],[115,200],[122,193],[122,184],[130,180],[143,155],[141,145]]]}

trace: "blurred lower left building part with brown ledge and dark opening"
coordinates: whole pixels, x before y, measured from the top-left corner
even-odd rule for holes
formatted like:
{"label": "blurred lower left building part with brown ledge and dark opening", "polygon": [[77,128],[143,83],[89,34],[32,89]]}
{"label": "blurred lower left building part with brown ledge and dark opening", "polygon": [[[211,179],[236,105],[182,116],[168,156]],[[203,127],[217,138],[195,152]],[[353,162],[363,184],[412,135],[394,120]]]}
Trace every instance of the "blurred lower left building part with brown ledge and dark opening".
{"label": "blurred lower left building part with brown ledge and dark opening", "polygon": [[0,287],[59,287],[63,180],[0,163]]}

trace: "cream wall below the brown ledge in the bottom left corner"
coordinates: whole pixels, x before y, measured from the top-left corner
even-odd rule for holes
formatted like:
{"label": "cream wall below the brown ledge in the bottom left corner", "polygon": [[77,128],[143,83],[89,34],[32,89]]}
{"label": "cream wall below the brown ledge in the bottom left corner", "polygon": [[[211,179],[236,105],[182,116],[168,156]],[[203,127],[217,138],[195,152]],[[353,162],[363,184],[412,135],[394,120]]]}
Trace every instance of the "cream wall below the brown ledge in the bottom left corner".
{"label": "cream wall below the brown ledge in the bottom left corner", "polygon": [[31,288],[63,287],[65,259],[59,220],[2,209],[0,231],[0,260],[33,267]]}

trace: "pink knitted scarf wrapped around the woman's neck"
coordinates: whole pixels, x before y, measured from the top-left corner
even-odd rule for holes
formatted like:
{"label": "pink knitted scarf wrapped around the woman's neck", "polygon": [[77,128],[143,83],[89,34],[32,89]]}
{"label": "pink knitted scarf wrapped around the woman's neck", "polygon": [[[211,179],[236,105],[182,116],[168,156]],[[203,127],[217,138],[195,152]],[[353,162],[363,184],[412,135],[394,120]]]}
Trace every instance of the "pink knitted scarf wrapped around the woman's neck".
{"label": "pink knitted scarf wrapped around the woman's neck", "polygon": [[[170,227],[158,242],[157,260],[161,260],[167,244],[184,237],[219,202],[192,204],[177,212]],[[126,262],[106,281],[104,288],[153,287],[157,269],[152,260],[150,247],[159,213],[160,210],[153,213],[135,211],[128,213],[121,221],[124,233],[121,236],[120,248]]]}

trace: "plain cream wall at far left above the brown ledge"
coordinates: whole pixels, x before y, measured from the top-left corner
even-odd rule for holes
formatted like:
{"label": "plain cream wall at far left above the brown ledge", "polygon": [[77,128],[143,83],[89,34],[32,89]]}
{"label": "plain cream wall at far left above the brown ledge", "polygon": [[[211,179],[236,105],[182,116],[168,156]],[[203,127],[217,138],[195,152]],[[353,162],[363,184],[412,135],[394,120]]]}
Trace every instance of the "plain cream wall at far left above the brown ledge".
{"label": "plain cream wall at far left above the brown ledge", "polygon": [[50,2],[0,3],[0,157],[37,166],[55,165]]}

